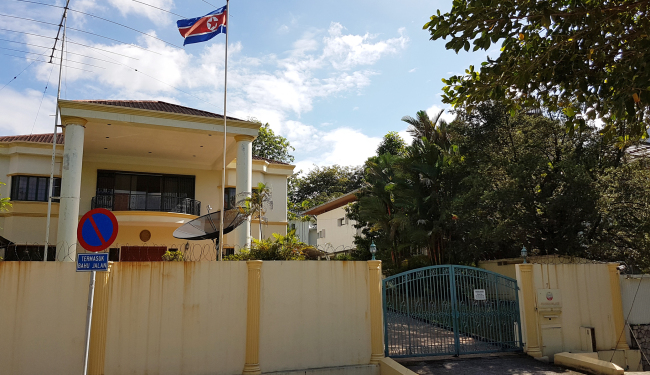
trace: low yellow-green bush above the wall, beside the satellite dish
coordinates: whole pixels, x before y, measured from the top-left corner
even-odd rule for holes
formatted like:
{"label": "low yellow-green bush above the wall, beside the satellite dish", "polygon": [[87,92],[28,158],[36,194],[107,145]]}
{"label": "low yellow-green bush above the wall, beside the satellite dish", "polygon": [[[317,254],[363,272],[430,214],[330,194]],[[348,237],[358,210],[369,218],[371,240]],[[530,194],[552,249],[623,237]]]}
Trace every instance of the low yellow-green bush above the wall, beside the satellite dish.
{"label": "low yellow-green bush above the wall, beside the satellite dish", "polygon": [[307,252],[315,251],[290,231],[286,236],[273,233],[273,238],[253,240],[250,250],[228,255],[224,260],[305,260]]}

